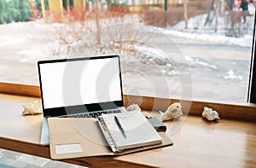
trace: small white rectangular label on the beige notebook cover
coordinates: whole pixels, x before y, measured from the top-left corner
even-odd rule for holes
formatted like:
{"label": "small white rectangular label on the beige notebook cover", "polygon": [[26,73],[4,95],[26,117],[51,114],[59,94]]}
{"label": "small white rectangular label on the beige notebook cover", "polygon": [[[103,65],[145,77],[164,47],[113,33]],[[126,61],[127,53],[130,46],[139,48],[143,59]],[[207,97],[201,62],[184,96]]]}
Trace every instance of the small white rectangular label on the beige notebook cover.
{"label": "small white rectangular label on the beige notebook cover", "polygon": [[83,152],[83,149],[80,143],[55,145],[56,154],[73,154],[81,152]]}

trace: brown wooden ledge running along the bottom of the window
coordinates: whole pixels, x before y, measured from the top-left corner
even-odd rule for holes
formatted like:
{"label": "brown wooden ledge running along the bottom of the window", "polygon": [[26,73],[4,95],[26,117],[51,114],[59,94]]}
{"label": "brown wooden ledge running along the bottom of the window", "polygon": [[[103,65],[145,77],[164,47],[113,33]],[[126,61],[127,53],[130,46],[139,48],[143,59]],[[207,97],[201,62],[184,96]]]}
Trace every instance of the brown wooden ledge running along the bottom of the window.
{"label": "brown wooden ledge running along the bottom of the window", "polygon": [[[24,84],[0,83],[0,93],[14,94],[20,96],[40,97],[40,87]],[[211,107],[220,114],[221,119],[234,119],[247,122],[256,122],[256,104],[224,104],[206,101],[186,101],[171,98],[160,98],[151,96],[124,95],[125,105],[137,103],[148,111],[165,111],[173,102],[181,102],[183,113],[201,117],[204,107]]]}

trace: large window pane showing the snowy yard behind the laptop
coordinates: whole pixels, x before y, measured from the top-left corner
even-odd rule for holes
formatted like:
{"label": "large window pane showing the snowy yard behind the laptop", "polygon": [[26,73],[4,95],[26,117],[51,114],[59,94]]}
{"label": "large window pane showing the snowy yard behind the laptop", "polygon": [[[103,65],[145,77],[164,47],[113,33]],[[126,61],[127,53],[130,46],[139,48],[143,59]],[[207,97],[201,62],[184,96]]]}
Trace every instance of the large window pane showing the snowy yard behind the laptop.
{"label": "large window pane showing the snowy yard behind the laptop", "polygon": [[125,93],[247,102],[254,1],[51,2],[0,1],[1,81],[38,85],[38,60],[119,53]]}

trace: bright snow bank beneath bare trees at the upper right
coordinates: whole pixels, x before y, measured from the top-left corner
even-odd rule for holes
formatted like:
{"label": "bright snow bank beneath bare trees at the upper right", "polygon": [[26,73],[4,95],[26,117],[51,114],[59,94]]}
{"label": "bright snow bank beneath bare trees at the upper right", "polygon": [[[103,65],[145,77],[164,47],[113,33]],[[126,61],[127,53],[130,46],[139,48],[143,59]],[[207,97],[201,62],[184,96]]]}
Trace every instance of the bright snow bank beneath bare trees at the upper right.
{"label": "bright snow bank beneath bare trees at the upper right", "polygon": [[188,20],[188,28],[184,29],[185,22],[179,21],[175,26],[164,29],[163,31],[167,35],[178,38],[198,39],[212,43],[225,43],[230,45],[239,45],[241,47],[251,47],[253,42],[253,15],[247,16],[247,22],[241,23],[241,37],[229,37],[226,33],[230,29],[230,21],[226,16],[218,16],[217,32],[215,32],[215,19],[212,20],[212,24],[205,26],[205,20],[207,20],[207,14],[200,14],[192,17]]}

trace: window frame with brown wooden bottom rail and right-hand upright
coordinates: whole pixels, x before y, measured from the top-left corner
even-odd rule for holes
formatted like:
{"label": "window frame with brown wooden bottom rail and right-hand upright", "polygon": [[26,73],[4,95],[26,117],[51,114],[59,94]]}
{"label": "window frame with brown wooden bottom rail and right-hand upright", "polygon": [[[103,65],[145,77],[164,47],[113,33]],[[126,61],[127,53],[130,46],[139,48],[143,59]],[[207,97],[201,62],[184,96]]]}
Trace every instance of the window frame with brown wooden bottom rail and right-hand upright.
{"label": "window frame with brown wooden bottom rail and right-hand upright", "polygon": [[[204,107],[212,107],[212,109],[218,111],[220,113],[220,117],[222,119],[235,119],[235,120],[243,120],[249,122],[256,122],[256,9],[254,13],[254,29],[253,29],[253,43],[252,43],[252,59],[251,59],[251,67],[250,67],[250,77],[248,84],[248,96],[247,96],[247,104],[237,104],[237,103],[216,103],[210,101],[190,101],[191,107],[189,109],[184,109],[184,111],[188,110],[189,115],[201,116],[201,112]],[[15,84],[9,82],[0,82],[0,94],[12,94],[19,96],[33,96],[40,98],[40,87],[38,85],[28,85],[28,84]],[[150,97],[150,96],[131,96],[124,95],[125,105],[128,103],[140,103],[142,100],[141,107],[143,110],[152,110],[154,102],[160,102],[158,107],[154,110],[162,110],[166,109],[166,103],[173,103],[175,101],[181,101],[183,103],[189,103],[186,100],[177,100],[172,98],[163,98],[163,97]],[[254,104],[253,104],[254,103]],[[163,105],[163,106],[161,106]]]}

